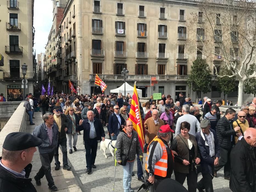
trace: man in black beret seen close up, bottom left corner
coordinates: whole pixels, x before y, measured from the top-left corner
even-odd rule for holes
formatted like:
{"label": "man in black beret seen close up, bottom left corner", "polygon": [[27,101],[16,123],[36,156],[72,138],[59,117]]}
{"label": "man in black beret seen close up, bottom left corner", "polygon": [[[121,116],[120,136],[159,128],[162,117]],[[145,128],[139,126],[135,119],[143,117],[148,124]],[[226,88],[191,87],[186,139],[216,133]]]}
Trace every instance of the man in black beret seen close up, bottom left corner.
{"label": "man in black beret seen close up, bottom left corner", "polygon": [[29,179],[36,146],[42,140],[25,132],[12,132],[5,137],[0,157],[0,191],[36,192]]}

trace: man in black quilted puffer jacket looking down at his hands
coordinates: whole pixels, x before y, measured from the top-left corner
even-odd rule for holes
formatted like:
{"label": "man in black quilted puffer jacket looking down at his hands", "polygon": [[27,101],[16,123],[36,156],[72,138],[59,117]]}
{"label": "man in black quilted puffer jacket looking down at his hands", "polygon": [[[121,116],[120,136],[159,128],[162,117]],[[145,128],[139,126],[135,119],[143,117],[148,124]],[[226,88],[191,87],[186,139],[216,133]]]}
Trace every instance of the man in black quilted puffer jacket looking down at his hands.
{"label": "man in black quilted puffer jacket looking down at his hands", "polygon": [[[232,108],[228,108],[225,112],[225,116],[222,117],[216,125],[217,138],[220,143],[220,161],[219,165],[215,166],[214,176],[217,177],[217,171],[224,166],[224,179],[230,180],[230,152],[235,145],[236,131],[240,127],[233,128],[233,118],[236,111]],[[237,135],[238,136],[238,135]]]}

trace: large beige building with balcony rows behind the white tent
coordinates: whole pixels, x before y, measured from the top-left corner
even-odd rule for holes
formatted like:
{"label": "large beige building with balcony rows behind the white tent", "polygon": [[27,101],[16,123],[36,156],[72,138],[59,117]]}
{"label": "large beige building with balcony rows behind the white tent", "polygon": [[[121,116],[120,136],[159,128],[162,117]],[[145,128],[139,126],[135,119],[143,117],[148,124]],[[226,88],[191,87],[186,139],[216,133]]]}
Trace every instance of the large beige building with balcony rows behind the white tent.
{"label": "large beige building with balcony rows behind the white tent", "polygon": [[[221,14],[216,15],[216,25]],[[192,25],[195,15],[197,20]],[[98,74],[108,85],[105,94],[109,94],[123,84],[121,71],[126,68],[126,81],[131,85],[136,81],[143,97],[161,92],[172,94],[175,100],[183,92],[195,98],[187,79],[192,62],[203,58],[213,75],[212,92],[205,95],[223,98],[213,67],[214,62],[219,70],[223,59],[205,54],[202,42],[207,41],[206,46],[218,54],[218,43],[225,37],[219,29],[214,37],[207,34],[209,26],[204,25],[203,12],[193,0],[69,0],[59,27],[61,89],[69,92],[71,80],[80,87],[80,94],[100,93],[100,87],[94,86]],[[228,98],[235,100],[237,91]]]}

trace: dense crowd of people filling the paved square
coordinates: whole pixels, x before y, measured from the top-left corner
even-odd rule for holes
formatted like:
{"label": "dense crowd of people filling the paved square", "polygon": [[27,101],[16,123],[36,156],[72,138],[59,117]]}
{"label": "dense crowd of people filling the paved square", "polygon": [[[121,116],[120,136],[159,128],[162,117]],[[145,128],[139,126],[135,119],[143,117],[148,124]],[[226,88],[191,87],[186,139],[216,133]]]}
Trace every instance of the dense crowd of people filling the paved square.
{"label": "dense crowd of people filling the paved square", "polygon": [[[132,102],[129,93],[124,96],[62,92],[50,97],[41,95],[38,100],[33,100],[32,94],[27,95],[24,107],[29,114],[30,125],[34,125],[33,115],[37,106],[43,119],[43,123],[36,126],[32,134],[35,141],[35,138],[39,138],[41,142],[35,145],[38,146],[42,164],[34,177],[36,185],[41,185],[41,179],[46,176],[49,189],[58,190],[50,164],[54,158],[55,170],[60,169],[58,149],[61,146],[63,169],[72,169],[67,162],[67,146],[69,154],[73,150],[77,151],[76,144],[81,131],[86,151],[86,173],[92,174],[92,170],[96,169],[98,141],[105,140],[106,127],[109,139],[116,140],[116,161],[123,166],[125,192],[134,191],[131,178],[134,176],[136,155],[137,179],[147,183],[151,192],[156,191],[173,172],[176,182],[181,185],[187,178],[189,192],[212,192],[212,179],[218,176],[217,172],[223,166],[224,179],[230,180],[232,191],[255,191],[256,98],[241,106],[238,113],[232,108],[220,111],[223,105],[221,100],[213,102],[207,97],[203,99],[204,103],[200,107],[194,106],[182,92],[175,103],[171,95],[162,95],[162,99],[157,101],[153,96],[145,103],[139,101],[145,136],[142,149],[138,134],[129,120]],[[33,148],[34,144],[29,146]],[[27,148],[20,150],[23,149]],[[146,156],[144,165],[143,155]],[[5,160],[8,159],[3,156],[2,162]],[[5,169],[5,166],[0,161],[0,178],[1,169]],[[144,170],[147,178],[144,178]],[[198,181],[200,172],[202,179]]]}

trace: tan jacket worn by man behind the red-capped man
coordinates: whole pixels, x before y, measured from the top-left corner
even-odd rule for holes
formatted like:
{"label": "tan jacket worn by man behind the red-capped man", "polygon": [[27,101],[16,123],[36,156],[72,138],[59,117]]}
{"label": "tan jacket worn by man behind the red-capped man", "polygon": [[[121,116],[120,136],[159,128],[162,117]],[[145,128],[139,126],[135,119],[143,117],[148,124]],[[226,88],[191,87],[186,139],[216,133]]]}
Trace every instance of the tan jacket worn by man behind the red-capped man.
{"label": "tan jacket worn by man behind the red-capped man", "polygon": [[148,118],[145,122],[144,122],[144,126],[145,129],[148,129],[148,134],[146,135],[146,143],[150,143],[154,137],[156,137],[156,134],[159,130],[159,128],[164,125],[164,121],[160,118],[158,118],[158,122],[157,124],[155,124],[153,117]]}

